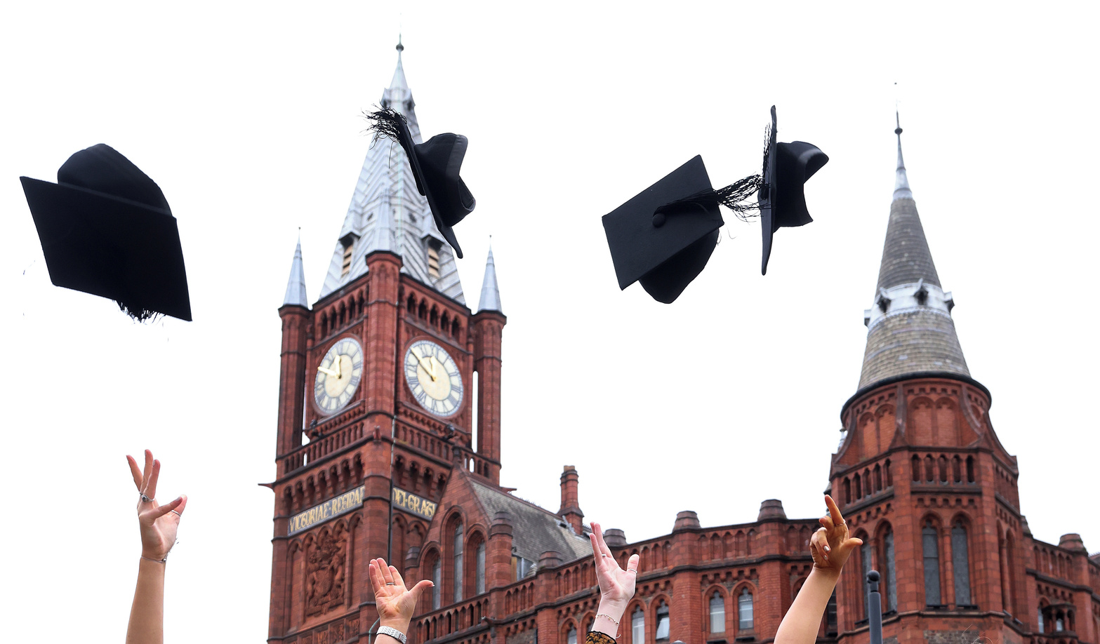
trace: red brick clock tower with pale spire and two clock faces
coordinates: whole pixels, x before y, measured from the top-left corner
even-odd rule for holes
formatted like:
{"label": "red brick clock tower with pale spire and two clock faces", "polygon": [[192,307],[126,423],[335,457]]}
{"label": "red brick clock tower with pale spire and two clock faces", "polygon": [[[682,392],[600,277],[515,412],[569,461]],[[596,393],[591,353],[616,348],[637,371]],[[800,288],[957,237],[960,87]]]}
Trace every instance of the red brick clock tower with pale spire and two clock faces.
{"label": "red brick clock tower with pale spire and two clock faces", "polygon": [[[408,120],[397,69],[382,106]],[[268,642],[366,642],[367,562],[416,568],[459,470],[498,486],[501,309],[492,251],[472,312],[405,153],[366,154],[320,299],[301,246],[283,307]]]}

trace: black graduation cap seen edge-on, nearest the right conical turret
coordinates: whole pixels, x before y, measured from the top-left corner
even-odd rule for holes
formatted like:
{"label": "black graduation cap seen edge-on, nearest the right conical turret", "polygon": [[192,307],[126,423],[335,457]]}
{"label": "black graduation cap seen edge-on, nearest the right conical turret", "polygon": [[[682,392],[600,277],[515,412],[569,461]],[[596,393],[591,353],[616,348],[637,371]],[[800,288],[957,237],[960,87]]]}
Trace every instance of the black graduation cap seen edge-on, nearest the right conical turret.
{"label": "black graduation cap seen edge-on, nearest the right conical turret", "polygon": [[763,185],[757,197],[763,234],[760,275],[768,273],[771,236],[776,231],[814,221],[806,210],[803,188],[806,179],[828,163],[828,156],[816,145],[804,141],[776,143],[776,106],[772,106],[768,146],[763,155]]}

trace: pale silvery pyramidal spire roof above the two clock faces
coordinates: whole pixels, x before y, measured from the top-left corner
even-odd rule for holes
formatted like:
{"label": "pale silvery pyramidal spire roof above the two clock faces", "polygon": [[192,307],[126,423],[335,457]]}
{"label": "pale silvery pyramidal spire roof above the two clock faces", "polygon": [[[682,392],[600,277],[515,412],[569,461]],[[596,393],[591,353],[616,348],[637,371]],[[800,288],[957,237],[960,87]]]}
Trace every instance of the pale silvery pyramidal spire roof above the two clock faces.
{"label": "pale silvery pyramidal spire roof above the two clock faces", "polygon": [[[402,51],[397,45],[397,69],[389,87],[383,91],[382,107],[393,108],[408,120],[413,140],[421,143],[420,125],[416,118],[416,101],[405,79]],[[405,151],[396,142],[380,138],[371,143],[363,168],[360,170],[355,191],[352,193],[348,214],[340,227],[332,262],[329,264],[321,298],[366,273],[365,257],[374,251],[392,251],[402,256],[402,273],[411,275],[452,300],[465,304],[458,264],[451,246],[436,227],[428,208],[428,200],[416,188],[413,168]],[[343,271],[344,242],[354,240],[351,270]],[[428,271],[428,246],[439,247],[439,277]]]}

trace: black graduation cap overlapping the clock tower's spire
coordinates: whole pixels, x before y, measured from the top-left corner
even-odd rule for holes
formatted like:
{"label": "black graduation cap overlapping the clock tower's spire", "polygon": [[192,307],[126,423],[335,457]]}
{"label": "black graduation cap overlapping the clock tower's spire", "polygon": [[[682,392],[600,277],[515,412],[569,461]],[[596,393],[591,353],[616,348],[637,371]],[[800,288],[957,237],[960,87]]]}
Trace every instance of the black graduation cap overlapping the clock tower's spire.
{"label": "black graduation cap overlapping the clock tower's spire", "polygon": [[474,211],[477,201],[459,176],[462,158],[466,155],[469,140],[450,132],[437,134],[424,143],[413,141],[405,116],[392,108],[377,110],[366,118],[374,121],[371,127],[375,138],[388,136],[402,145],[409,157],[417,190],[428,199],[428,208],[436,220],[436,227],[443,233],[454,254],[462,258],[462,248],[454,236],[453,226]]}

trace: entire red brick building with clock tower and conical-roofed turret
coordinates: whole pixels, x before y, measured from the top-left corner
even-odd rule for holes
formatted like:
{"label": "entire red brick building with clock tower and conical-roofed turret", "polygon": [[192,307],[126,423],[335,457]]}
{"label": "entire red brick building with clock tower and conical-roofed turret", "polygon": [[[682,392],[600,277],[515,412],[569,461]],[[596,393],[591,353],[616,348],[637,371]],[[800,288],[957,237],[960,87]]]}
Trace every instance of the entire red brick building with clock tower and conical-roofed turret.
{"label": "entire red brick building with clock tower and conical-roofed turret", "polygon": [[[398,65],[383,106],[409,119]],[[828,487],[866,545],[822,641],[867,641],[864,571],[882,575],[891,644],[1100,643],[1100,555],[1032,537],[1016,459],[970,378],[898,149],[898,180],[866,312],[859,388]],[[366,563],[432,578],[411,642],[575,644],[598,602],[578,473],[549,511],[499,487],[506,318],[490,253],[476,312],[399,146],[367,154],[319,300],[295,254],[284,306],[268,642],[366,642]],[[607,541],[642,574],[623,644],[767,643],[811,568],[816,517],[765,501],[755,521]]]}

